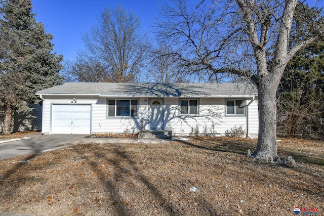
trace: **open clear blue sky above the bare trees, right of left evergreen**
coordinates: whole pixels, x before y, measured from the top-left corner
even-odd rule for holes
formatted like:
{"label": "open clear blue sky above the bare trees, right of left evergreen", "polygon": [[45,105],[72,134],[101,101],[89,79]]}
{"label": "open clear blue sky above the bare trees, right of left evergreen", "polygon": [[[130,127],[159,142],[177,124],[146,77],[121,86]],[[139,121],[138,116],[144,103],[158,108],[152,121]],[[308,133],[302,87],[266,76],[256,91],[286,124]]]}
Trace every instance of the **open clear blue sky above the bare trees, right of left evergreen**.
{"label": "open clear blue sky above the bare trees, right of left evergreen", "polygon": [[116,5],[133,10],[140,19],[143,31],[152,29],[159,4],[168,0],[31,0],[36,21],[42,22],[47,33],[52,33],[54,51],[62,54],[64,61],[73,60],[83,49],[82,35],[97,24],[103,9]]}

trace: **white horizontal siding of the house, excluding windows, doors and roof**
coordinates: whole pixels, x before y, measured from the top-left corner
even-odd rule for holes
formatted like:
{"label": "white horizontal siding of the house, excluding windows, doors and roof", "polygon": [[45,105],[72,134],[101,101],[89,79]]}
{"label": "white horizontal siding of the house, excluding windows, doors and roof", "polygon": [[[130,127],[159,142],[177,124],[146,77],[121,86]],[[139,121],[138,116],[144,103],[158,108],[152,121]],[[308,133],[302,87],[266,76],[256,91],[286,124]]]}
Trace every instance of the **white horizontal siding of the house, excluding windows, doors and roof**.
{"label": "white horizontal siding of the house, excluding windows, doors and roof", "polygon": [[[107,117],[107,98],[101,97],[62,97],[43,96],[42,132],[51,134],[51,104],[71,104],[75,98],[76,104],[91,104],[91,133],[137,133],[141,128],[150,129],[149,98],[140,98],[138,117]],[[257,101],[251,102],[247,115],[226,116],[224,98],[198,99],[197,115],[182,115],[179,110],[179,98],[164,98],[163,114],[164,128],[171,130],[174,135],[190,135],[195,129],[201,135],[224,135],[226,130],[234,126],[242,126],[249,131],[250,137],[258,134]],[[248,104],[250,101],[246,101]],[[248,121],[249,120],[249,121]],[[247,127],[247,123],[248,127]]]}

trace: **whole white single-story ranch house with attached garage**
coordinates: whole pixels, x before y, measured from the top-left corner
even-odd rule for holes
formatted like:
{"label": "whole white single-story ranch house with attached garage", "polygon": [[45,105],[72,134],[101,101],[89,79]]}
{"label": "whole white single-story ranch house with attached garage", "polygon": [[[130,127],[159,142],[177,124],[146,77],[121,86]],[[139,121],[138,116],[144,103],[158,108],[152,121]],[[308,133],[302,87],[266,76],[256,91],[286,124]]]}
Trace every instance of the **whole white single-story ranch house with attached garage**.
{"label": "whole white single-story ranch house with attached garage", "polygon": [[256,90],[247,83],[68,82],[36,93],[45,134],[138,133],[224,135],[242,126],[258,134]]}

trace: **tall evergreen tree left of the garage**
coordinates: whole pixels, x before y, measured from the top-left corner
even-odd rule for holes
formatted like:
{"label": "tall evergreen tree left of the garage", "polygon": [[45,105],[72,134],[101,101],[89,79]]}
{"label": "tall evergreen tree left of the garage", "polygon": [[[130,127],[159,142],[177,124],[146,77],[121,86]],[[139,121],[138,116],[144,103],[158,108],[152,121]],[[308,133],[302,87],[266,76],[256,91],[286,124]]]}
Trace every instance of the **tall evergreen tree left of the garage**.
{"label": "tall evergreen tree left of the garage", "polygon": [[39,102],[36,91],[61,83],[63,57],[53,53],[53,36],[36,22],[30,0],[1,1],[0,13],[0,100],[8,134],[13,111],[28,111],[28,103]]}

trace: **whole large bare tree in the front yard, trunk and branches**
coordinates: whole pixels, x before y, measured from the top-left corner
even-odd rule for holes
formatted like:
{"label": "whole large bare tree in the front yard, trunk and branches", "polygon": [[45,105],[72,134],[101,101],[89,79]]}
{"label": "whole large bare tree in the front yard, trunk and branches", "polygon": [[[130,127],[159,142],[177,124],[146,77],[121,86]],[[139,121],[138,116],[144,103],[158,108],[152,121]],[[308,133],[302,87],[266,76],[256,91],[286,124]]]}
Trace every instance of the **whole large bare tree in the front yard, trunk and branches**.
{"label": "whole large bare tree in the front yard, trunk and branches", "polygon": [[[259,95],[259,137],[254,157],[273,161],[276,145],[276,92],[287,63],[323,35],[323,16],[304,7],[307,31],[292,28],[297,0],[183,0],[164,6],[158,22],[160,39],[172,41],[182,64],[193,70],[225,73],[253,82]],[[294,30],[294,32],[292,32]],[[305,33],[306,32],[306,33]],[[290,40],[291,35],[295,40]],[[252,64],[251,64],[252,63]],[[220,78],[221,78],[220,77]]]}

